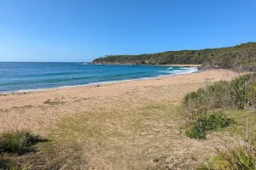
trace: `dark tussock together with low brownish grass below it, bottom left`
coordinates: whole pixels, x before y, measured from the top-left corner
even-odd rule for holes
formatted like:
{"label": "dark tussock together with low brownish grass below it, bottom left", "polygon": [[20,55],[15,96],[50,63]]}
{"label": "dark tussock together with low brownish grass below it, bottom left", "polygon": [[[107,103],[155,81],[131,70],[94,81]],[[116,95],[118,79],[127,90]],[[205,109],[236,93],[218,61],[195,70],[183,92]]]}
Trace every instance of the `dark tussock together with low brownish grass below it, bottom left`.
{"label": "dark tussock together with low brownish grass below it, bottom left", "polygon": [[78,144],[56,143],[26,131],[3,133],[0,141],[1,170],[60,169],[64,164],[79,169],[81,164]]}

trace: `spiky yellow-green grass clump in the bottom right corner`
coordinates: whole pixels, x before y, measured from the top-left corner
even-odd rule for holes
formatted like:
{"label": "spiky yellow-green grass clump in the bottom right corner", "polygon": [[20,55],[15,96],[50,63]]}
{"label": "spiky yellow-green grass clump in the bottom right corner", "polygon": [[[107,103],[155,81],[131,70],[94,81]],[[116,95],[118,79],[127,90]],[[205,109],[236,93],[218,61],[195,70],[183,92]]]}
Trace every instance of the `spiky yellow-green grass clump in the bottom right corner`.
{"label": "spiky yellow-green grass clump in the bottom right corner", "polygon": [[[254,123],[254,120],[252,120]],[[241,130],[245,128],[245,130]],[[248,122],[238,129],[239,135],[235,135],[236,142],[224,143],[226,150],[217,150],[217,156],[208,159],[198,169],[241,169],[256,170],[256,133],[255,127],[248,126]]]}

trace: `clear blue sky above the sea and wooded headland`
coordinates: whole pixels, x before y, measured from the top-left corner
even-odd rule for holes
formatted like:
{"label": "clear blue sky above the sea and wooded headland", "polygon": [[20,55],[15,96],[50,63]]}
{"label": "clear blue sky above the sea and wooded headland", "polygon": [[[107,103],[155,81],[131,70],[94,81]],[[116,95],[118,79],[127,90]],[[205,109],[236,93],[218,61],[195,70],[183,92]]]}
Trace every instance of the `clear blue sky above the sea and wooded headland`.
{"label": "clear blue sky above the sea and wooded headland", "polygon": [[85,62],[256,42],[255,0],[2,0],[0,61]]}

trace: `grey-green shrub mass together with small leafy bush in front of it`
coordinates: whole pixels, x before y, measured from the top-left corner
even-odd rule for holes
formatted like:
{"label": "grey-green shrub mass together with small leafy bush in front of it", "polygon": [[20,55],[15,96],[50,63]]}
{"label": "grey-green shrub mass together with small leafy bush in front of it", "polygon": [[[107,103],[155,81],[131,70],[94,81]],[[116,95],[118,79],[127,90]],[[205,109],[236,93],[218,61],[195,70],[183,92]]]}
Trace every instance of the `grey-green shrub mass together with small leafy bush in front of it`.
{"label": "grey-green shrub mass together with small leafy bush in front of it", "polygon": [[[216,109],[256,108],[256,74],[247,74],[231,82],[221,81],[187,94],[183,99],[182,114],[189,118],[190,138],[205,139],[206,132],[229,126],[224,114]],[[212,111],[213,112],[212,114]]]}

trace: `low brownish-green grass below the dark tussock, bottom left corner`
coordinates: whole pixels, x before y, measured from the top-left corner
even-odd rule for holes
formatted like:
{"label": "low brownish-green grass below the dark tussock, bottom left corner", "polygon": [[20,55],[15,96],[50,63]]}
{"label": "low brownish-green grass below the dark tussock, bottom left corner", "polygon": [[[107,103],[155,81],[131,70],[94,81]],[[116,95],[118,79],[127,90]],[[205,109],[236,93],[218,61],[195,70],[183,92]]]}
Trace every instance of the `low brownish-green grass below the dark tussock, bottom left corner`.
{"label": "low brownish-green grass below the dark tussock, bottom left corner", "polygon": [[[0,169],[81,169],[83,150],[76,144],[60,144],[53,141],[38,143],[37,150],[23,155],[3,153],[0,155]],[[83,169],[83,168],[82,168]]]}

